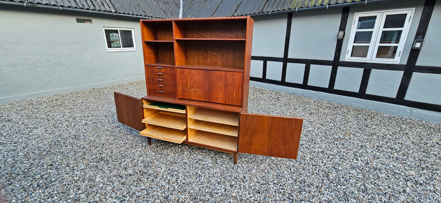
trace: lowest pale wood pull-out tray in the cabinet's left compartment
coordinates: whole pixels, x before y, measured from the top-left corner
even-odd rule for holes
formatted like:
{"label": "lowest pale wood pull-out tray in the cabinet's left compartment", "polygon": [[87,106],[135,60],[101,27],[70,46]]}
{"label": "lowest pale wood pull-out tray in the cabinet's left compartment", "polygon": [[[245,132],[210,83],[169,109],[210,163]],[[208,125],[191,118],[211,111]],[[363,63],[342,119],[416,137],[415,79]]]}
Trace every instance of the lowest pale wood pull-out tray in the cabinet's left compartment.
{"label": "lowest pale wood pull-out tray in the cabinet's left compartment", "polygon": [[185,130],[176,130],[155,125],[151,125],[150,127],[141,131],[139,134],[178,144],[184,142],[186,138]]}

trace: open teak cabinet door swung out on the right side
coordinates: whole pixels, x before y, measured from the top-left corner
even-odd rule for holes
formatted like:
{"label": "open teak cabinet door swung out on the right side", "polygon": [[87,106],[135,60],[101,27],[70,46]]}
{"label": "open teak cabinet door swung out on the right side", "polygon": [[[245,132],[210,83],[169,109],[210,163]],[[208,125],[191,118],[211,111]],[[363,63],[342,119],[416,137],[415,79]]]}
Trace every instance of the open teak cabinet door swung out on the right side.
{"label": "open teak cabinet door swung out on the right side", "polygon": [[297,158],[303,118],[241,114],[239,152]]}

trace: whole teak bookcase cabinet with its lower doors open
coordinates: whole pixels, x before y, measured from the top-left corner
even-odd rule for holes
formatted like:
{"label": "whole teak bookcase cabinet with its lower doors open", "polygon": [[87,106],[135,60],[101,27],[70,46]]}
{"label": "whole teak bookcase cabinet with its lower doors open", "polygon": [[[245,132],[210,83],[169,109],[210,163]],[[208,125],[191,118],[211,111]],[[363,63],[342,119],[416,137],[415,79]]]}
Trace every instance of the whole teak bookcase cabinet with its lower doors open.
{"label": "whole teak bookcase cabinet with its lower doors open", "polygon": [[247,113],[251,17],[141,20],[147,96],[114,93],[140,135],[234,154],[295,159],[303,119]]}

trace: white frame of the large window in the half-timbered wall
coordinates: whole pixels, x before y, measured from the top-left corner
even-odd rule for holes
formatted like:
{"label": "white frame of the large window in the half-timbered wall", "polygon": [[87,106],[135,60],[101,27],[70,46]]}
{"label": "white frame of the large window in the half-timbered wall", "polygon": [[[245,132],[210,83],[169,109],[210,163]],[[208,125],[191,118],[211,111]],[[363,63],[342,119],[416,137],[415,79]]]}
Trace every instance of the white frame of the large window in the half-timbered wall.
{"label": "white frame of the large window in the half-timbered wall", "polygon": [[[403,49],[406,43],[407,35],[409,33],[410,24],[412,22],[414,8],[398,9],[398,10],[382,10],[374,12],[360,12],[354,14],[354,22],[352,24],[351,35],[349,37],[348,50],[346,52],[346,60],[348,61],[362,61],[362,62],[386,62],[386,63],[399,63],[401,57],[403,56]],[[400,28],[385,29],[383,28],[384,22],[387,15],[394,14],[407,14],[404,26]],[[377,16],[375,20],[375,25],[373,29],[357,29],[358,19],[365,16]],[[400,42],[397,45],[397,54],[395,58],[376,58],[376,53],[378,47],[381,45],[391,46],[392,44],[380,44],[381,33],[387,30],[403,30],[400,38]],[[370,43],[354,43],[355,33],[357,31],[373,31]],[[351,57],[352,49],[354,45],[369,46],[368,56],[366,58],[362,57]]]}

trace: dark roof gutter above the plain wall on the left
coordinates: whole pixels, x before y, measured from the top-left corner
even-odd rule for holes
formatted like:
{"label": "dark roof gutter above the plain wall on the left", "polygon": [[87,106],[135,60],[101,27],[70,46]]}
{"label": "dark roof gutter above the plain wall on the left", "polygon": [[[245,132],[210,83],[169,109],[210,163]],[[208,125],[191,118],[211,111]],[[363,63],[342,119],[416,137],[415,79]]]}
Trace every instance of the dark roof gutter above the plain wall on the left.
{"label": "dark roof gutter above the plain wall on the left", "polygon": [[69,7],[62,7],[62,6],[43,5],[43,4],[15,2],[15,1],[0,0],[0,5],[23,6],[23,7],[32,7],[32,8],[46,8],[46,9],[52,9],[52,10],[73,11],[73,12],[99,14],[99,15],[111,15],[111,16],[117,16],[117,17],[126,17],[126,18],[129,17],[129,18],[137,18],[137,19],[156,19],[156,18],[151,18],[151,17],[147,17],[147,16],[129,15],[129,14],[122,14],[122,13],[106,12],[106,11],[96,11],[96,10],[88,10],[88,9],[81,9],[81,8],[69,8]]}

